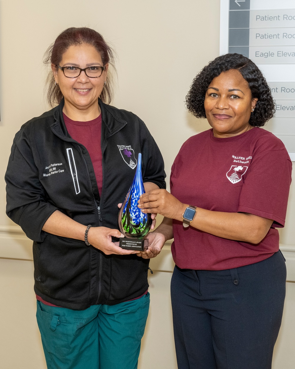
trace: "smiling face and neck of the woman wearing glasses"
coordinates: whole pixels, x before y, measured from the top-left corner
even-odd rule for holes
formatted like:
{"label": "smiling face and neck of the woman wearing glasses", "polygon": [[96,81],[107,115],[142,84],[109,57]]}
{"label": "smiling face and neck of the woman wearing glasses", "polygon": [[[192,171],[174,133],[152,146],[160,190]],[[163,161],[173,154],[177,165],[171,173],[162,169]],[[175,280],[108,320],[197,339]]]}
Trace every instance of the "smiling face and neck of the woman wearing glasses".
{"label": "smiling face and neck of the woman wearing glasses", "polygon": [[[84,69],[104,65],[100,53],[93,46],[82,44],[70,46],[63,54],[59,66],[77,66]],[[79,111],[99,111],[97,100],[107,78],[108,63],[105,64],[105,70],[100,77],[96,78],[87,77],[85,72],[81,72],[79,77],[68,78],[55,65],[51,65],[51,68],[55,81],[65,97],[65,109],[67,111],[78,114]]]}

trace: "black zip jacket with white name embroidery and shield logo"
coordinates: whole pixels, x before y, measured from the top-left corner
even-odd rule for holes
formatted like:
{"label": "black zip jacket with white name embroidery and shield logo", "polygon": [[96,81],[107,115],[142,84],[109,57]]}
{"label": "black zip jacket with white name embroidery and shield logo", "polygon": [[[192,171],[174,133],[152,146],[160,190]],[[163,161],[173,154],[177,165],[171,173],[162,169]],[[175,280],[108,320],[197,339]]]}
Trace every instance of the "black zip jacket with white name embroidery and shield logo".
{"label": "black zip jacket with white name embroidery and shield logo", "polygon": [[34,241],[38,296],[73,310],[114,305],[147,290],[149,261],[136,255],[105,255],[83,241],[46,233],[42,227],[60,210],[84,225],[118,229],[117,204],[132,183],[139,152],[143,182],[160,188],[165,188],[163,158],[142,120],[99,100],[100,197],[87,149],[66,130],[63,104],[28,121],[15,135],[5,176],[7,215]]}

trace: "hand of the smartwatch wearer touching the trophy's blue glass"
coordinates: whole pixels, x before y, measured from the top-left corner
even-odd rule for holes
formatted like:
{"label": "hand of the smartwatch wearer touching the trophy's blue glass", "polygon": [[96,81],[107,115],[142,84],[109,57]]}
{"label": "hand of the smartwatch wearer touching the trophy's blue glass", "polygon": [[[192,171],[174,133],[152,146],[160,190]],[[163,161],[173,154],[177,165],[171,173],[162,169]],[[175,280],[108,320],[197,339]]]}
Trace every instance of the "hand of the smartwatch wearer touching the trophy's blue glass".
{"label": "hand of the smartwatch wearer touching the trophy's blue glass", "polygon": [[142,194],[138,207],[143,213],[157,213],[166,218],[182,220],[186,205],[181,203],[167,190],[150,190]]}

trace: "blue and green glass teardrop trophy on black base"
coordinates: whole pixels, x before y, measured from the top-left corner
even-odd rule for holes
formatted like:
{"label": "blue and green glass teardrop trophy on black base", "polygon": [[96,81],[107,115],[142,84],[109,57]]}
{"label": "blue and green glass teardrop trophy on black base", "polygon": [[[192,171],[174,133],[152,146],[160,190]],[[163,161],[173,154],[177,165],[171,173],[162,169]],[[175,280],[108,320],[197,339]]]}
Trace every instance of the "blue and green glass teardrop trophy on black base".
{"label": "blue and green glass teardrop trophy on black base", "polygon": [[147,249],[148,240],[145,235],[150,230],[152,218],[150,214],[142,213],[139,209],[139,196],[145,193],[141,173],[141,154],[138,161],[135,176],[131,187],[122,203],[119,211],[119,229],[124,238],[120,238],[119,246],[127,250],[143,251]]}

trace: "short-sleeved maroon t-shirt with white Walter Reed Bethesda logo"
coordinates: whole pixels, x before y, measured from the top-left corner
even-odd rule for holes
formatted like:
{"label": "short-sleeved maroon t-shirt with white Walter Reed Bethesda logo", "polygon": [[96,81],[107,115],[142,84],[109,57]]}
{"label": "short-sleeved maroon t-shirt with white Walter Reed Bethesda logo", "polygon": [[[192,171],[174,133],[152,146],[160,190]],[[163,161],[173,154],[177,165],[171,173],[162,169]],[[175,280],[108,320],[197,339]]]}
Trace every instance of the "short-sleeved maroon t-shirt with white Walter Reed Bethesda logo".
{"label": "short-sleeved maroon t-shirt with white Walter Reed Bethesda logo", "polygon": [[269,258],[279,248],[292,163],[280,139],[262,128],[216,138],[208,130],[189,138],[171,169],[171,193],[182,203],[228,213],[250,213],[274,223],[257,245],[184,228],[173,220],[174,262],[184,269],[223,270]]}

